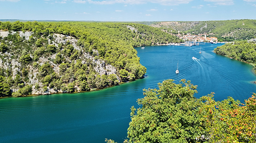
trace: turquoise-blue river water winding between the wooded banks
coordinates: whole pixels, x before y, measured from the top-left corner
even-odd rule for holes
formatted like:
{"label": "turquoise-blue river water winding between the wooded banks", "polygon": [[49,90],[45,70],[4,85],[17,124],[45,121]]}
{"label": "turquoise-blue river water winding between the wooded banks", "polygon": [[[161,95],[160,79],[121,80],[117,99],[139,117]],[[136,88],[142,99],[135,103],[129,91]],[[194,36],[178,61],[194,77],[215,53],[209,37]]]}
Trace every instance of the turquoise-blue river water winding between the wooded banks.
{"label": "turquoise-blue river water winding between the wooded banks", "polygon": [[136,48],[147,68],[144,79],[94,92],[2,99],[0,142],[122,142],[131,106],[138,107],[144,88],[157,88],[165,79],[191,80],[198,85],[197,98],[215,92],[215,100],[233,97],[243,102],[256,92],[252,66],[212,52],[220,45]]}

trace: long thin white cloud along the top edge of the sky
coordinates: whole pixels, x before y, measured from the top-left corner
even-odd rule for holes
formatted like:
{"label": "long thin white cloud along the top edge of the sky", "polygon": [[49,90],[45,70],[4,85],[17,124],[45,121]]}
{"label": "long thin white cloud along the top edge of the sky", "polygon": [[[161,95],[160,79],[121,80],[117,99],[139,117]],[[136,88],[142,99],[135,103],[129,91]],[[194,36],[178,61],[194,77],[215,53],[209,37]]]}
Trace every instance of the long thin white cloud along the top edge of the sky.
{"label": "long thin white cloud along the top edge of the sky", "polygon": [[188,4],[193,0],[105,0],[105,1],[94,1],[94,0],[73,0],[77,3],[86,3],[89,4],[146,4],[154,3],[161,5],[179,5],[179,4]]}

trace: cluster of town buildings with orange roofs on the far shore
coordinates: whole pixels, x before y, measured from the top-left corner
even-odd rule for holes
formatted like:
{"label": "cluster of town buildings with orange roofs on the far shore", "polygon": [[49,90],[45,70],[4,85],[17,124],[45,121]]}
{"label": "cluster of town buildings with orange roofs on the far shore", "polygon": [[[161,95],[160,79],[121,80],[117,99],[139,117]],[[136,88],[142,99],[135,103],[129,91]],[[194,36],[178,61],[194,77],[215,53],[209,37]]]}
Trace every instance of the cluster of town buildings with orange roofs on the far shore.
{"label": "cluster of town buildings with orange roofs on the far shore", "polygon": [[207,37],[210,34],[198,34],[198,35],[191,35],[190,33],[187,33],[186,35],[178,34],[176,35],[183,41],[192,41],[192,42],[218,42],[218,38],[216,37]]}

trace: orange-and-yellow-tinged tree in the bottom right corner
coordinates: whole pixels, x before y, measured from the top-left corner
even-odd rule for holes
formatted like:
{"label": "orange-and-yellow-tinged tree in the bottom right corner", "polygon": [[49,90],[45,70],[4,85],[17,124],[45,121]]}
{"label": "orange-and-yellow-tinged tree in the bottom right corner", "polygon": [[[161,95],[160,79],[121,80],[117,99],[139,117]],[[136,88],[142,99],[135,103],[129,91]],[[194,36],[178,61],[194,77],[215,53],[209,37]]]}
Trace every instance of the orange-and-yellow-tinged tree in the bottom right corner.
{"label": "orange-and-yellow-tinged tree in the bottom right corner", "polygon": [[216,102],[213,96],[201,97],[204,106],[200,113],[206,120],[210,142],[256,142],[256,97],[245,100],[246,104],[228,97]]}

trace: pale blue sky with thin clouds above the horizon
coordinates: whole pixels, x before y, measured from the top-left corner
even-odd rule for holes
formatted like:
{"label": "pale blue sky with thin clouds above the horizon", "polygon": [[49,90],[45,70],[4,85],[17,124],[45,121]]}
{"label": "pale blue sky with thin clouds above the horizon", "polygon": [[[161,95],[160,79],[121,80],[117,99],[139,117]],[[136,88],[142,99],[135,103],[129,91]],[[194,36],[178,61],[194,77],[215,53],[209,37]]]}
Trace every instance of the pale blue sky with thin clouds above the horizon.
{"label": "pale blue sky with thin clouds above the horizon", "polygon": [[256,19],[256,0],[0,0],[0,19],[202,21]]}

